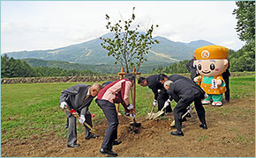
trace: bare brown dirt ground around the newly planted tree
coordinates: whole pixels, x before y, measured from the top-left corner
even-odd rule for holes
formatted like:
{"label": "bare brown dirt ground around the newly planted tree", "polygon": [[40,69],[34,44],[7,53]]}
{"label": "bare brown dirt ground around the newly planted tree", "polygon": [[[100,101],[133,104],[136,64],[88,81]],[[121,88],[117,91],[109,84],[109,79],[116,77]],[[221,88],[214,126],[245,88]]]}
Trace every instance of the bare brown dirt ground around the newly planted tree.
{"label": "bare brown dirt ground around the newly planted tree", "polygon": [[[172,115],[156,120],[138,119],[142,126],[133,128],[131,119],[119,117],[118,140],[123,140],[113,150],[122,157],[254,157],[255,156],[255,98],[231,100],[222,107],[205,106],[207,130],[200,129],[195,111],[183,124],[184,137],[171,136],[169,125]],[[9,140],[2,143],[2,156],[7,157],[99,157],[107,121],[94,125],[100,135],[95,140],[85,140],[78,134],[77,148],[66,147],[66,139],[56,133],[37,136],[31,140]],[[43,138],[43,140],[41,140]]]}

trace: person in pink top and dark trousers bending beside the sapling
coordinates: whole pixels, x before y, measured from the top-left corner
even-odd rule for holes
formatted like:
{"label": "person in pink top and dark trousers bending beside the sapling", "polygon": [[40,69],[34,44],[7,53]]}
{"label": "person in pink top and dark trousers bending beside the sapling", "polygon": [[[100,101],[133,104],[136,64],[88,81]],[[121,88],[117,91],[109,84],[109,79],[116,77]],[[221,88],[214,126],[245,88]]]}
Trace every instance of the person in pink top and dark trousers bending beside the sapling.
{"label": "person in pink top and dark trousers bending beside the sapling", "polygon": [[133,105],[130,104],[129,100],[130,91],[134,82],[135,76],[127,74],[124,76],[124,79],[109,83],[99,91],[96,97],[96,103],[101,107],[109,122],[105,138],[102,142],[101,154],[108,154],[113,157],[117,156],[117,153],[114,153],[112,148],[122,142],[121,140],[117,140],[118,118],[115,103],[121,102],[126,113],[130,113],[131,118],[135,117]]}

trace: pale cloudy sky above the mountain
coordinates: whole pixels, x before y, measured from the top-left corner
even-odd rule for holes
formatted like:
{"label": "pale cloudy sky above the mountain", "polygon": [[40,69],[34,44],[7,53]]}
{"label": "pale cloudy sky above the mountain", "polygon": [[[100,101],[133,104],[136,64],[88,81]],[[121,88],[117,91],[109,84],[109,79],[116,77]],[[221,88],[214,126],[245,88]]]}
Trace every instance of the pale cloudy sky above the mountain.
{"label": "pale cloudy sky above the mountain", "polygon": [[238,50],[245,42],[236,32],[234,1],[2,1],[1,53],[66,47],[108,33],[111,19],[128,19],[135,7],[135,25],[172,41],[205,39]]}

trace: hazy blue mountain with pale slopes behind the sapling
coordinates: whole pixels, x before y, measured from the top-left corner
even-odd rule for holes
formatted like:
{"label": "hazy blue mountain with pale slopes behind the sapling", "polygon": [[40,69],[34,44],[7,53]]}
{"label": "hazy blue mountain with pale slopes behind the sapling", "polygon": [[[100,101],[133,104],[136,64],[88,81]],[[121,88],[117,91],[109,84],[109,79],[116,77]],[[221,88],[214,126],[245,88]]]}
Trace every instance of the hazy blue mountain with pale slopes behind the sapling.
{"label": "hazy blue mountain with pale slopes behind the sapling", "polygon": [[[113,35],[107,33],[102,37],[111,38]],[[192,58],[193,50],[197,47],[214,45],[206,40],[197,40],[190,43],[174,42],[164,37],[157,36],[159,40],[147,54],[147,64],[173,63]],[[83,64],[113,64],[115,59],[109,57],[107,51],[101,47],[100,38],[92,39],[68,47],[60,47],[49,50],[20,51],[7,53],[9,57],[15,59],[41,59],[45,61],[68,61],[71,63]]]}

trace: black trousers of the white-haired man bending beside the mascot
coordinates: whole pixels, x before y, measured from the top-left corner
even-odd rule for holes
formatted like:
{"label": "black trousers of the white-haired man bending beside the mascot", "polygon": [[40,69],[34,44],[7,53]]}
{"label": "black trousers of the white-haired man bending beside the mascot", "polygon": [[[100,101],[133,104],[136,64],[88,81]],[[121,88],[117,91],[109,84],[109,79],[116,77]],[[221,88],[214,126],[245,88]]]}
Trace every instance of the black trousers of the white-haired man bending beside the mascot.
{"label": "black trousers of the white-haired man bending beside the mascot", "polygon": [[198,113],[198,117],[200,118],[200,122],[202,124],[206,124],[206,112],[201,104],[202,94],[196,93],[192,95],[191,92],[188,92],[187,94],[184,94],[182,98],[179,99],[177,102],[176,107],[173,110],[174,119],[175,119],[175,127],[177,128],[177,131],[181,131],[182,129],[182,115],[184,114],[184,111],[186,111],[186,108],[194,102],[196,111]]}

